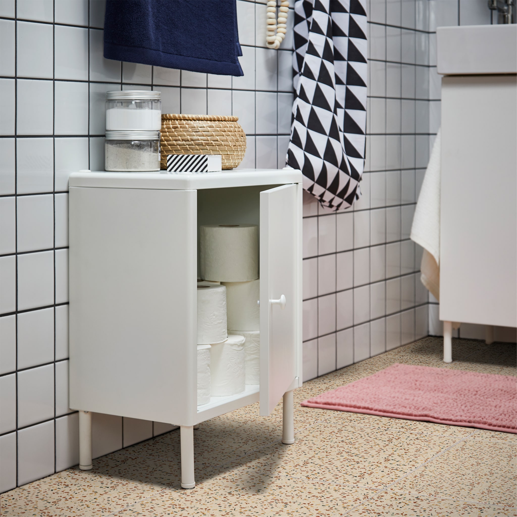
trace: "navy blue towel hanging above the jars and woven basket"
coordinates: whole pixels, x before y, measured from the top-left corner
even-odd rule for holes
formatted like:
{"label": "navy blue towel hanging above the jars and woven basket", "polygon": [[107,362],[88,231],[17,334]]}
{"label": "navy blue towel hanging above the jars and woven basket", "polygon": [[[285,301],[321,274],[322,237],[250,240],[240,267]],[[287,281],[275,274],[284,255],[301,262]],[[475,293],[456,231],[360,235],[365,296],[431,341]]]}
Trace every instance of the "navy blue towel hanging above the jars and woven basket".
{"label": "navy blue towel hanging above the jars and woven basket", "polygon": [[107,0],[104,57],[244,75],[236,0]]}

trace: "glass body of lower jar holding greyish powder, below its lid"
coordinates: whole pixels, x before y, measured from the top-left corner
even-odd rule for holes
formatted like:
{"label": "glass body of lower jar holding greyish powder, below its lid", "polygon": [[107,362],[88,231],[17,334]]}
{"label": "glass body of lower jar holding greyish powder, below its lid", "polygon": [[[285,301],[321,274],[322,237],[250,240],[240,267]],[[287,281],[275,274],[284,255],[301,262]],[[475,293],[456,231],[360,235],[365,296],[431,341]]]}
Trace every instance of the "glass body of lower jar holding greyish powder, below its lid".
{"label": "glass body of lower jar holding greyish powder, below its lid", "polygon": [[159,140],[106,140],[104,168],[117,172],[160,170]]}

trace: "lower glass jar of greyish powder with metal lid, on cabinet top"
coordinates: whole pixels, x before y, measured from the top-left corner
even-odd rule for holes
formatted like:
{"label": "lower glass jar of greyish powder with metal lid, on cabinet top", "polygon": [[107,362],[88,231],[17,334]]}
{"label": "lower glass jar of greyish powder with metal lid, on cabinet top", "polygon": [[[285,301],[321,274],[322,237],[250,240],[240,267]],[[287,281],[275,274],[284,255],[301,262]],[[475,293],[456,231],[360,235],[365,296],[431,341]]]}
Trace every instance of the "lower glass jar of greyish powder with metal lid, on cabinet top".
{"label": "lower glass jar of greyish powder with metal lid, on cabinet top", "polygon": [[106,131],[104,168],[117,172],[160,170],[159,131]]}

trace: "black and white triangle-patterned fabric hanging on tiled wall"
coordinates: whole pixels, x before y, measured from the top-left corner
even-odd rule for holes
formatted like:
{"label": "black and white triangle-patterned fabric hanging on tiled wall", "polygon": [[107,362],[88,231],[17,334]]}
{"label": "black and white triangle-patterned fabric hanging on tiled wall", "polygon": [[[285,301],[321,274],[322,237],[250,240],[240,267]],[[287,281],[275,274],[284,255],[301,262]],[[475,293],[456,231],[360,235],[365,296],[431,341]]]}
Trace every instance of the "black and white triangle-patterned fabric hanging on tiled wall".
{"label": "black and white triangle-patterned fabric hanging on tiled wall", "polygon": [[287,164],[331,209],[359,199],[366,144],[366,0],[296,0]]}

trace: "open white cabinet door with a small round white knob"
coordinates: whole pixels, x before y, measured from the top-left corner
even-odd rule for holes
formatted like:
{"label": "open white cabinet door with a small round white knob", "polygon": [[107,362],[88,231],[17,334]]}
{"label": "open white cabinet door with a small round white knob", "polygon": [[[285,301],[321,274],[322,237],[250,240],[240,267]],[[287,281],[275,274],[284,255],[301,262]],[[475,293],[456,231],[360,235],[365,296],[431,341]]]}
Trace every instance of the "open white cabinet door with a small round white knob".
{"label": "open white cabinet door with a small round white knob", "polygon": [[[298,185],[260,194],[260,414],[269,415],[296,377]],[[285,299],[284,299],[285,298]],[[281,301],[280,301],[281,300]],[[292,389],[292,388],[291,388]]]}

